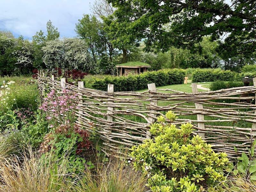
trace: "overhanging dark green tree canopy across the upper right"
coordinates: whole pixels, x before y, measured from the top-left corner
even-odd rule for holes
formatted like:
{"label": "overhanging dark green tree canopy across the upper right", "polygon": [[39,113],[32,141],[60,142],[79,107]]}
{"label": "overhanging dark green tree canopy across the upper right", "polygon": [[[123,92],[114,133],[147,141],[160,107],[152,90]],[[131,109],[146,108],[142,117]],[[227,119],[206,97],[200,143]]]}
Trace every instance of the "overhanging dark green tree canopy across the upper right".
{"label": "overhanging dark green tree canopy across the upper right", "polygon": [[[146,50],[200,49],[204,36],[220,41],[232,55],[256,50],[256,1],[108,0],[116,7],[115,26],[127,41],[145,39]],[[196,45],[197,44],[197,45]],[[199,46],[198,46],[199,44]]]}

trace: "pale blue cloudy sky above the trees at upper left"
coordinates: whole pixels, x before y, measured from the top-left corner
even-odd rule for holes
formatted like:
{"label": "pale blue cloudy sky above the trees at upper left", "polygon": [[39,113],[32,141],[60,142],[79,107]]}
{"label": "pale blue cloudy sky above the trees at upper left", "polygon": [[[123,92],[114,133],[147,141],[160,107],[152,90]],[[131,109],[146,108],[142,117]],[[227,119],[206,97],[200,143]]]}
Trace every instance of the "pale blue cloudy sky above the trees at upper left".
{"label": "pale blue cloudy sky above the trees at upper left", "polygon": [[91,14],[94,0],[0,0],[0,28],[14,36],[31,39],[37,31],[46,31],[46,22],[58,28],[61,37],[76,36],[75,24],[83,14]]}

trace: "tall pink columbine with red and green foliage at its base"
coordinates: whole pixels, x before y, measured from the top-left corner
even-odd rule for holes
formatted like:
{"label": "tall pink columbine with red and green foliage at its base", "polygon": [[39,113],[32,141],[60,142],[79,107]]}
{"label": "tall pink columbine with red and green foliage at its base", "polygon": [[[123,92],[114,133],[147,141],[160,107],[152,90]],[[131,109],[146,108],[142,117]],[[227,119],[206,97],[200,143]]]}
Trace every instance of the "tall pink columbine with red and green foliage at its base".
{"label": "tall pink columbine with red and green foliage at its base", "polygon": [[69,172],[76,173],[85,169],[81,155],[91,146],[89,133],[75,123],[77,104],[78,95],[66,87],[61,93],[52,90],[46,94],[39,108],[46,114],[51,130],[40,145],[41,158],[48,161],[48,154],[54,152],[57,159],[68,161]]}

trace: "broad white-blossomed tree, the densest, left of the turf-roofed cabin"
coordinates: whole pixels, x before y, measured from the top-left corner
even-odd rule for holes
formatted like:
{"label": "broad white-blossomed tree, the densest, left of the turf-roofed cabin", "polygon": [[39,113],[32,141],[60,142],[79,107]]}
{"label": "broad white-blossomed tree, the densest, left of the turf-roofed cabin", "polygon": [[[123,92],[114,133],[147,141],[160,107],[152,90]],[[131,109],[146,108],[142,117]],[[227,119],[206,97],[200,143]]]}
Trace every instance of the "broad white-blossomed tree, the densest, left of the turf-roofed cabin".
{"label": "broad white-blossomed tree, the densest, left of the turf-roofed cabin", "polygon": [[42,47],[47,68],[79,69],[92,71],[96,66],[83,39],[63,38],[46,42]]}

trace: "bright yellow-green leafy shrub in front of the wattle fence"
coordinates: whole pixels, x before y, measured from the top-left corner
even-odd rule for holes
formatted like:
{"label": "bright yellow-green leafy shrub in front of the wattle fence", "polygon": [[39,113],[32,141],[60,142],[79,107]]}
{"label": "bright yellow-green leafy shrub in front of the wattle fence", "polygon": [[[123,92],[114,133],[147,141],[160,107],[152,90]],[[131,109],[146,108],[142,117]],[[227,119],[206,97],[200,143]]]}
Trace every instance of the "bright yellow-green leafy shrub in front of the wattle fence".
{"label": "bright yellow-green leafy shrub in front of the wattle fence", "polygon": [[154,192],[199,192],[217,188],[216,181],[225,180],[228,165],[226,153],[215,153],[198,135],[190,123],[180,129],[172,122],[177,118],[172,111],[158,117],[150,132],[154,139],[133,146],[130,154],[133,166],[148,173],[148,186]]}

